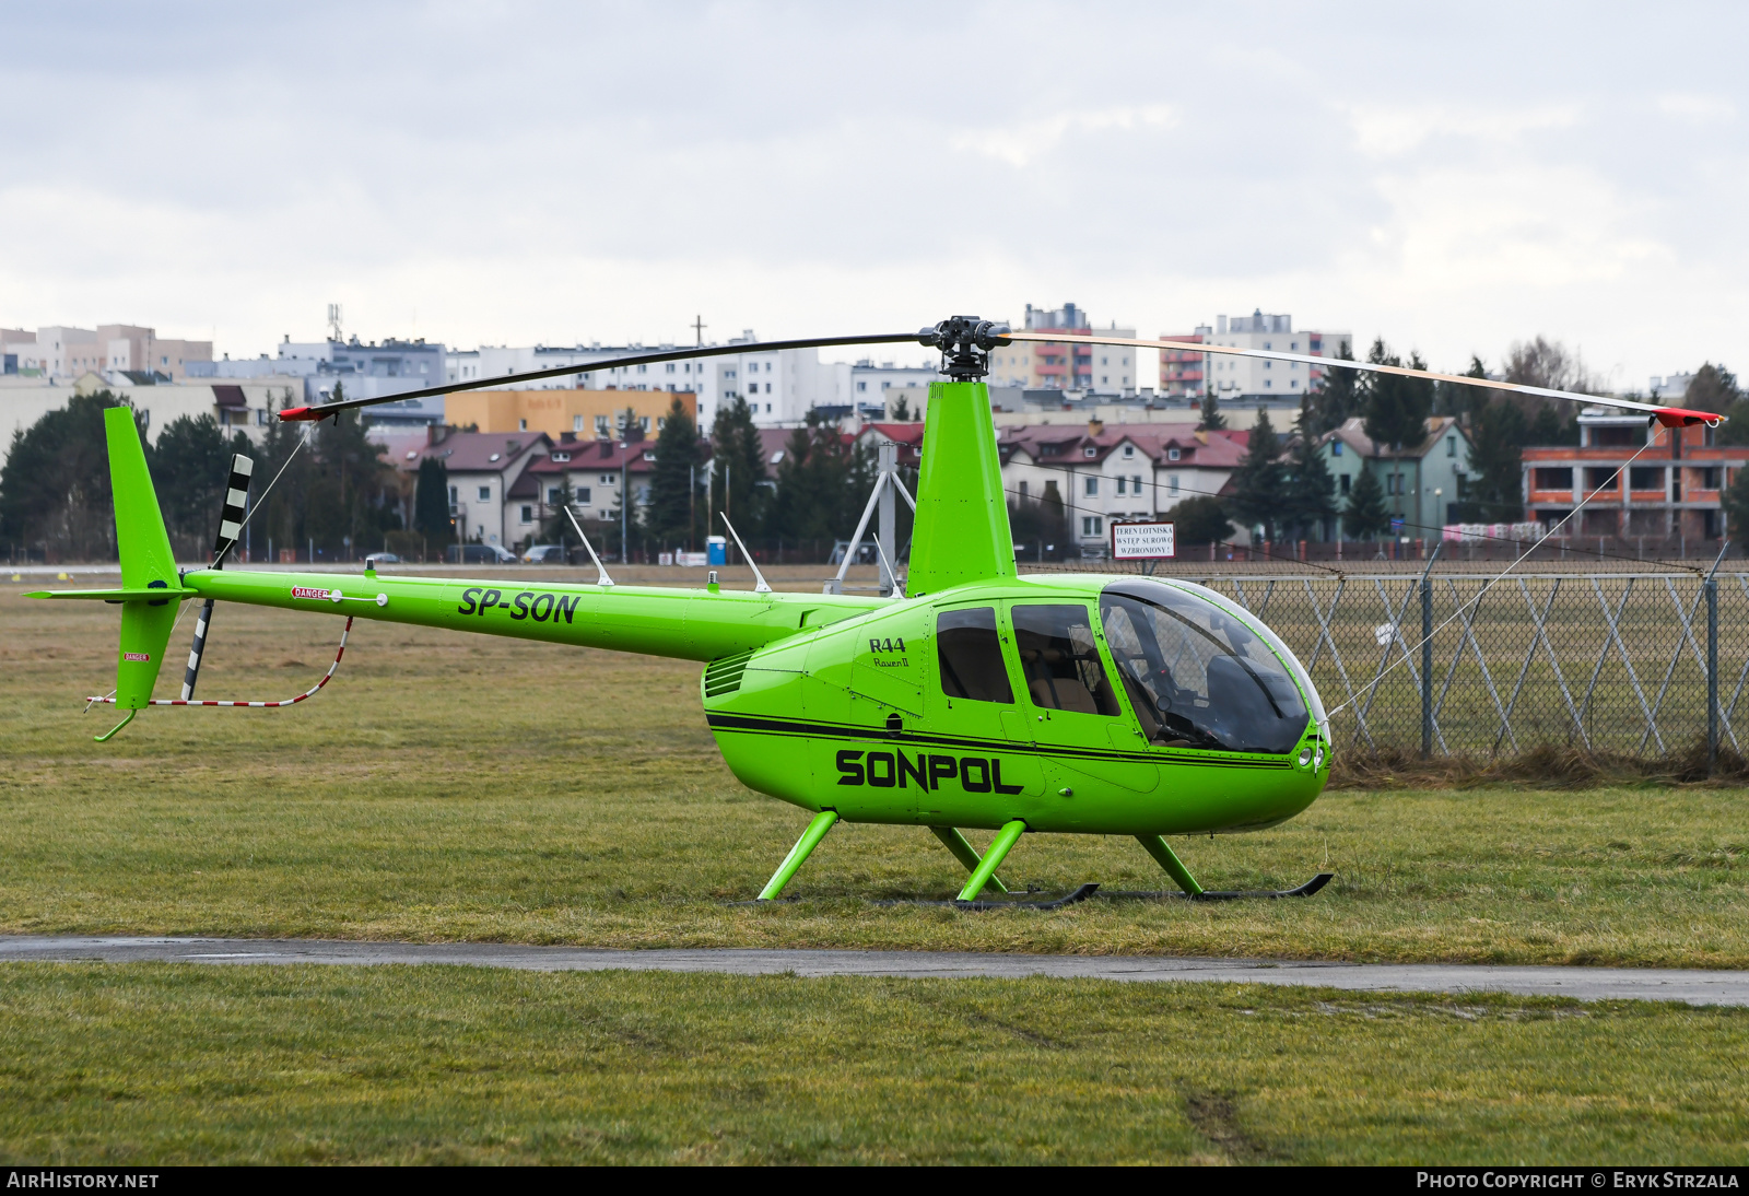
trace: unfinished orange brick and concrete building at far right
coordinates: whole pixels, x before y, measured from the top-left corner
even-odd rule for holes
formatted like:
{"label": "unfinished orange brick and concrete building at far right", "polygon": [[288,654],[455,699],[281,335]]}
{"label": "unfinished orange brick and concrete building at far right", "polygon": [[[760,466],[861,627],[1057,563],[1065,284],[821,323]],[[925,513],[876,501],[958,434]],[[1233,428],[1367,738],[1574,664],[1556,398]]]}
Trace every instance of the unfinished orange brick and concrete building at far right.
{"label": "unfinished orange brick and concrete building at far right", "polygon": [[[1648,441],[1651,449],[1628,463]],[[1644,416],[1585,407],[1578,448],[1530,446],[1522,460],[1532,519],[1555,526],[1585,500],[1562,535],[1716,540],[1725,532],[1719,497],[1749,465],[1749,446],[1719,444],[1707,427],[1648,428]]]}

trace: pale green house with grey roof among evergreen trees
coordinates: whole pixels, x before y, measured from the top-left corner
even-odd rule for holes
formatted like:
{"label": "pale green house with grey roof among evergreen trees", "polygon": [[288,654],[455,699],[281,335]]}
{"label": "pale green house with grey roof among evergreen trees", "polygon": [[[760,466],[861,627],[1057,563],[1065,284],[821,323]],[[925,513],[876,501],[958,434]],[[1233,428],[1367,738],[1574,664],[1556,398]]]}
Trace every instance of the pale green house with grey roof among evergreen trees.
{"label": "pale green house with grey roof among evergreen trees", "polygon": [[[1331,477],[1336,479],[1336,507],[1348,505],[1361,470],[1371,470],[1385,491],[1385,507],[1403,519],[1403,535],[1429,539],[1452,518],[1452,504],[1462,502],[1469,484],[1469,435],[1452,416],[1427,420],[1427,437],[1420,444],[1390,451],[1366,435],[1366,420],[1355,416],[1319,437],[1319,448]],[[1345,539],[1336,528],[1336,539]]]}

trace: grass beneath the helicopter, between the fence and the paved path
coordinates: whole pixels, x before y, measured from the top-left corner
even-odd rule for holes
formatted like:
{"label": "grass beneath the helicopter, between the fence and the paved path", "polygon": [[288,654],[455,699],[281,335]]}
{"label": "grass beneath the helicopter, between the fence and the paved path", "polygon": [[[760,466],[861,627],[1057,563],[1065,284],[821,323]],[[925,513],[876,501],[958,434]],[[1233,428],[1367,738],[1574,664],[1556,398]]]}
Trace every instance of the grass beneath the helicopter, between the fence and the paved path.
{"label": "grass beneath the helicopter, between the fence and the paved path", "polygon": [[[297,692],[338,631],[220,607],[201,691]],[[806,817],[722,766],[693,664],[360,622],[310,703],[147,710],[94,745],[114,712],[79,698],[114,636],[110,607],[0,595],[0,932],[1749,965],[1740,789],[1326,794],[1175,845],[1209,887],[1338,873],[1310,900],[1221,906],[878,907],[962,873],[927,831],[840,827],[803,900],[750,909],[728,902]],[[1004,878],[1168,887],[1119,838],[1028,836]]]}

